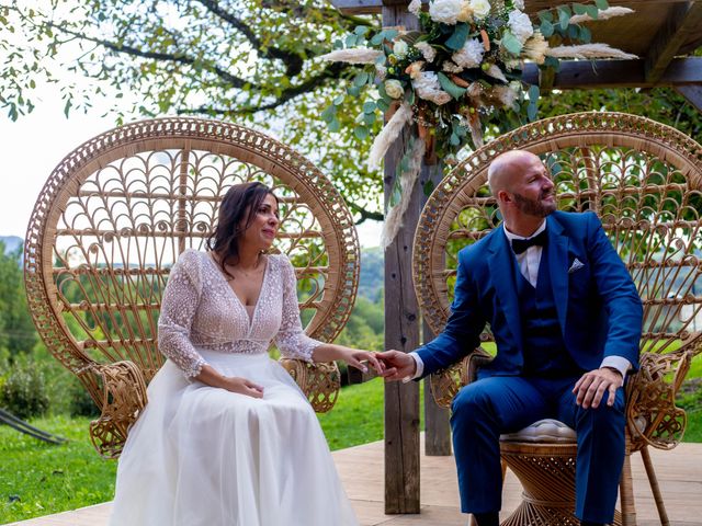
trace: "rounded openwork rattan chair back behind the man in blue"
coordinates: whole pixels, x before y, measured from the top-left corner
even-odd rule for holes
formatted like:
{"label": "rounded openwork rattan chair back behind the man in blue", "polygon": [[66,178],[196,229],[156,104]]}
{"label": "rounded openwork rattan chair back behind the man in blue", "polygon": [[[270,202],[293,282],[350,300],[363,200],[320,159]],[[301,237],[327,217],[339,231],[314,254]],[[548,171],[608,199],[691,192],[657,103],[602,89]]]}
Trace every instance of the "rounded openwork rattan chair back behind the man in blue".
{"label": "rounded openwork rattan chair back behind the man in blue", "polygon": [[[699,353],[702,147],[669,126],[620,113],[565,115],[523,126],[477,150],[437,186],[419,220],[412,262],[417,296],[432,330],[440,332],[450,313],[458,250],[500,221],[487,169],[495,157],[511,149],[531,151],[550,167],[559,209],[592,210],[601,218],[644,302],[644,359],[678,363],[688,352]],[[483,339],[492,340],[489,330]],[[445,384],[461,381],[465,370],[454,368],[452,379],[444,375]],[[653,375],[668,373],[663,367]],[[681,378],[667,380],[676,388]],[[444,389],[440,403],[450,403],[456,389]],[[683,418],[679,414],[667,431],[657,430],[664,442],[679,438]],[[636,430],[647,427],[649,435],[648,427],[661,425],[639,422]]]}

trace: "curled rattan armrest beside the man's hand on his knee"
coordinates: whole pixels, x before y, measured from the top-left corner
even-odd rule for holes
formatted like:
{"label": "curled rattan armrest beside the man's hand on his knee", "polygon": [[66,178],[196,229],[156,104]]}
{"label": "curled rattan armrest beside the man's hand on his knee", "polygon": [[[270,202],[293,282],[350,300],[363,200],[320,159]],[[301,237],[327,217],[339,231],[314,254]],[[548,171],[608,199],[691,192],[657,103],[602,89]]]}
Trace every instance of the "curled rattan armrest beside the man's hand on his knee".
{"label": "curled rattan armrest beside the man's hand on his knee", "polygon": [[632,450],[646,445],[672,449],[682,439],[687,414],[676,407],[676,395],[691,359],[689,351],[642,356],[638,373],[626,384],[626,423]]}

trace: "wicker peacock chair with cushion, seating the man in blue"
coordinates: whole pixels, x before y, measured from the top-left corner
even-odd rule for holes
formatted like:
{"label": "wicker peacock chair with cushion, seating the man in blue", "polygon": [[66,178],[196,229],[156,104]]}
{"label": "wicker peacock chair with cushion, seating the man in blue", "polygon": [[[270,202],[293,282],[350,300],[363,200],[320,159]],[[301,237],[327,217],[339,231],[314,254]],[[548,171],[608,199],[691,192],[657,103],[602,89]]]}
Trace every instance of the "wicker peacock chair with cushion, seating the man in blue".
{"label": "wicker peacock chair with cushion, seating the man in blue", "polygon": [[[643,299],[641,370],[626,388],[627,447],[616,524],[636,524],[630,455],[641,451],[661,523],[668,525],[647,448],[671,449],[681,439],[686,414],[675,404],[676,392],[691,357],[702,351],[702,147],[647,118],[581,113],[523,126],[477,150],[437,186],[415,237],[416,291],[435,333],[450,313],[457,251],[499,222],[487,168],[510,149],[529,150],[551,167],[561,209],[598,214]],[[491,340],[486,331],[483,341]],[[434,375],[437,402],[449,407],[489,359],[478,348]],[[579,524],[573,515],[573,438],[529,443],[518,435],[503,437],[500,448],[525,495],[503,526]]]}

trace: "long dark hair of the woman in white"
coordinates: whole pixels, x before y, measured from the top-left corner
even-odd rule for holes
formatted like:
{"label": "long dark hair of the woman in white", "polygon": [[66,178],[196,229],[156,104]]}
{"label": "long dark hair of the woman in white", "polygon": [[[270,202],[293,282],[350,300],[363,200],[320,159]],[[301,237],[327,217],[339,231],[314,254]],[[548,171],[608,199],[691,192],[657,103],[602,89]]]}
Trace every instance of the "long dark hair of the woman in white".
{"label": "long dark hair of the woman in white", "polygon": [[239,239],[251,226],[267,195],[278,196],[263,183],[241,183],[231,186],[219,205],[215,230],[207,239],[207,248],[217,255],[217,263],[225,275],[233,277],[226,265],[239,263]]}

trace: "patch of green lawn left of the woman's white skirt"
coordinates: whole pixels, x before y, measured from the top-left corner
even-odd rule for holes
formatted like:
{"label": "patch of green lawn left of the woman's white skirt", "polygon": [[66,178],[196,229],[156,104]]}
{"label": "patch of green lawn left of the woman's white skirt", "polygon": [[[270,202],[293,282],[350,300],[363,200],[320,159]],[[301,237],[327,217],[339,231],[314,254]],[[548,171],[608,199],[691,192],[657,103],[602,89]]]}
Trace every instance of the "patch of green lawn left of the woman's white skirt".
{"label": "patch of green lawn left of the woman's white skirt", "polygon": [[116,462],[98,456],[88,423],[67,416],[34,420],[35,426],[69,439],[58,446],[0,426],[0,524],[112,500]]}

